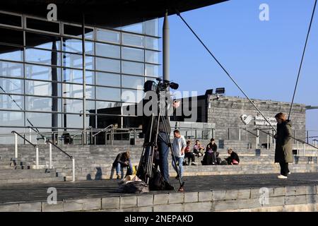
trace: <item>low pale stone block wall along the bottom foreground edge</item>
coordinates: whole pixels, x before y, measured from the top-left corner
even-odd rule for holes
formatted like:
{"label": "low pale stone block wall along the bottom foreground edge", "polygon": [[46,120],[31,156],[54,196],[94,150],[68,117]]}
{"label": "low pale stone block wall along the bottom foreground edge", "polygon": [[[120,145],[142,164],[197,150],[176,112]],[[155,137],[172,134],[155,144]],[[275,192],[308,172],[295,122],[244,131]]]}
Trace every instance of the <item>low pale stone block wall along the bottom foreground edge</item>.
{"label": "low pale stone block wall along the bottom foreground edge", "polygon": [[317,211],[317,185],[161,194],[123,194],[47,202],[0,204],[0,211]]}

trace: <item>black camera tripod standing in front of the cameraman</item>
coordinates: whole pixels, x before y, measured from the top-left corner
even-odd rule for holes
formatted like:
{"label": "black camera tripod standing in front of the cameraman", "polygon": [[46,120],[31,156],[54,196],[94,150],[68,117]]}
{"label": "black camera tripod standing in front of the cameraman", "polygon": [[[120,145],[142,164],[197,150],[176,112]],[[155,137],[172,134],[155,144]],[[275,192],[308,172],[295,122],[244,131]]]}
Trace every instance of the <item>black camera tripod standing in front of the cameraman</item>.
{"label": "black camera tripod standing in front of the cameraman", "polygon": [[[148,126],[148,131],[145,137],[145,141],[143,143],[143,151],[141,153],[141,159],[139,161],[139,167],[137,169],[137,175],[141,175],[141,179],[143,179],[144,182],[149,184],[149,181],[152,177],[152,170],[153,170],[153,158],[155,154],[155,148],[157,148],[158,143],[158,136],[159,135],[159,124],[160,121],[163,124],[163,129],[165,136],[167,138],[166,145],[170,148],[170,152],[172,154],[172,161],[175,163],[177,176],[179,179],[180,187],[178,191],[184,191],[184,182],[181,180],[181,175],[179,172],[179,169],[177,168],[177,161],[175,159],[175,155],[173,155],[173,145],[170,141],[170,134],[167,131],[167,121],[160,110],[159,105],[159,114],[158,116],[155,116],[154,114],[151,114],[151,125]],[[156,124],[157,123],[157,124]],[[161,137],[162,138],[162,137]],[[164,139],[162,138],[164,141]],[[161,160],[162,161],[162,160]],[[182,162],[179,162],[179,164],[182,164]]]}

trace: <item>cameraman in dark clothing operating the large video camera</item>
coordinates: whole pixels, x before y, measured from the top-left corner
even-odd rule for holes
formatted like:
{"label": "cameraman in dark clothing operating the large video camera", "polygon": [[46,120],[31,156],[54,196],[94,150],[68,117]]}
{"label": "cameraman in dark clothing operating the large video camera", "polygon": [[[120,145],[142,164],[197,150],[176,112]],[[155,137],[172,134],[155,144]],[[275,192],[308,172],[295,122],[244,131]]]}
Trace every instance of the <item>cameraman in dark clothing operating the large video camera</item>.
{"label": "cameraman in dark clothing operating the large video camera", "polygon": [[[170,112],[173,112],[174,109],[179,107],[180,102],[172,101],[172,98],[169,96],[168,91],[160,92],[160,94],[158,94],[157,86],[154,81],[146,81],[143,87],[143,91],[146,93],[145,97],[142,100],[142,121],[143,133],[145,134],[145,142],[155,142],[155,132],[158,128],[157,146],[159,151],[159,168],[165,181],[169,182],[168,144],[170,143],[171,133],[169,115],[171,114]],[[158,102],[158,99],[160,99],[160,102]],[[160,106],[158,106],[159,103]],[[160,115],[163,115],[163,117],[160,118],[158,125],[159,108],[161,109]],[[155,116],[153,118],[154,121],[152,126],[151,114]],[[162,120],[163,118],[164,120]],[[165,133],[165,127],[167,128],[167,133]]]}

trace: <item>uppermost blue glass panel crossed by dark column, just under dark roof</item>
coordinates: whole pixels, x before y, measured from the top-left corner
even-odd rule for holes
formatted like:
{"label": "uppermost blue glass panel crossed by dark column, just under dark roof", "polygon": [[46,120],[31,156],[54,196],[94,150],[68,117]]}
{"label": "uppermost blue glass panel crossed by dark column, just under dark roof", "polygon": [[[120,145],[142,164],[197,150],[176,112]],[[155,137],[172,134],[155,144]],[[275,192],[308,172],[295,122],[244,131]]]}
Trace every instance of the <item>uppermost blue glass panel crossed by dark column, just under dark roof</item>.
{"label": "uppermost blue glass panel crossed by dark column, just under dark roof", "polygon": [[42,49],[25,49],[25,61],[37,64],[61,65],[59,52]]}

